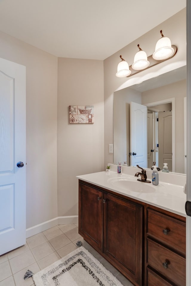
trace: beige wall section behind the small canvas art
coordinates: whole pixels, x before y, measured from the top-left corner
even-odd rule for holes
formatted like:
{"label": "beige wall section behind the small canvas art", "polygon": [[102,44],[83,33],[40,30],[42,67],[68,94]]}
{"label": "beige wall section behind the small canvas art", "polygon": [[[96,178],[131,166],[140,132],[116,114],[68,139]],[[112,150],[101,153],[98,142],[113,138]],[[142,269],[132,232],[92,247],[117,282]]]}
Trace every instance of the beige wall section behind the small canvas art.
{"label": "beige wall section behind the small canvas art", "polygon": [[[104,170],[103,61],[58,58],[58,216],[78,215],[78,179]],[[94,105],[94,124],[70,124],[69,105]],[[107,133],[107,130],[106,130]]]}

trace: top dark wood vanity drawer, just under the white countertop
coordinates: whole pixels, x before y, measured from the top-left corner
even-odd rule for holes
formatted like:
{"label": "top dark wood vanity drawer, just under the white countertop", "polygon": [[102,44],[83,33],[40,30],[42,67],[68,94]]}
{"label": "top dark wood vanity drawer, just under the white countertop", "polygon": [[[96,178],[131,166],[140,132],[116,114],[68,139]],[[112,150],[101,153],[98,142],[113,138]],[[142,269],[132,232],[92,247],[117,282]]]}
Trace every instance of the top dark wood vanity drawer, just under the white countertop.
{"label": "top dark wood vanity drawer, just under the white countertop", "polygon": [[147,209],[147,235],[186,255],[186,223]]}

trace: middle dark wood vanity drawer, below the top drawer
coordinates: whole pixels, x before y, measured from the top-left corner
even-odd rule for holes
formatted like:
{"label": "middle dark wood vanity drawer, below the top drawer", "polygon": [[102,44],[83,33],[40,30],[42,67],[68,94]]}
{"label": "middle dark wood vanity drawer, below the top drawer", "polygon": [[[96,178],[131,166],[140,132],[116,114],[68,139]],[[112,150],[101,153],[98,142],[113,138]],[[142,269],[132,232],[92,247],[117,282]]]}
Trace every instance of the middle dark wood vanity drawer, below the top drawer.
{"label": "middle dark wood vanity drawer, below the top drawer", "polygon": [[147,262],[159,273],[179,286],[186,285],[186,259],[147,238]]}

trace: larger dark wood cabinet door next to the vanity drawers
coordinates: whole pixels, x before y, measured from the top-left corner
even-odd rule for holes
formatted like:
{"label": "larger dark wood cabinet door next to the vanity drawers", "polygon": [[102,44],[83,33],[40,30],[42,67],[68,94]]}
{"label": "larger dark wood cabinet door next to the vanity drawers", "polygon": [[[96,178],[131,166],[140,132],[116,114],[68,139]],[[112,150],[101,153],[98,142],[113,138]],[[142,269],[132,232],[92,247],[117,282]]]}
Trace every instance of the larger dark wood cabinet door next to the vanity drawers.
{"label": "larger dark wood cabinet door next to the vanity drawers", "polygon": [[142,285],[142,206],[104,193],[104,253],[130,281]]}

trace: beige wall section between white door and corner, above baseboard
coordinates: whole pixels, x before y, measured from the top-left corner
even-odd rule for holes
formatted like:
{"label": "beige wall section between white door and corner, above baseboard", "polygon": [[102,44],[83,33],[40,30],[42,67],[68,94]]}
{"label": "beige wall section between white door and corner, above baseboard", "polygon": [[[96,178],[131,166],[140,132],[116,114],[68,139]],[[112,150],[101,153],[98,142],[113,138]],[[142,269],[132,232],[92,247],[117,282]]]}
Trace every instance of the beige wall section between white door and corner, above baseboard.
{"label": "beige wall section between white door and corner, above baseboard", "polygon": [[26,226],[29,228],[58,215],[58,58],[2,32],[0,57],[26,66]]}

